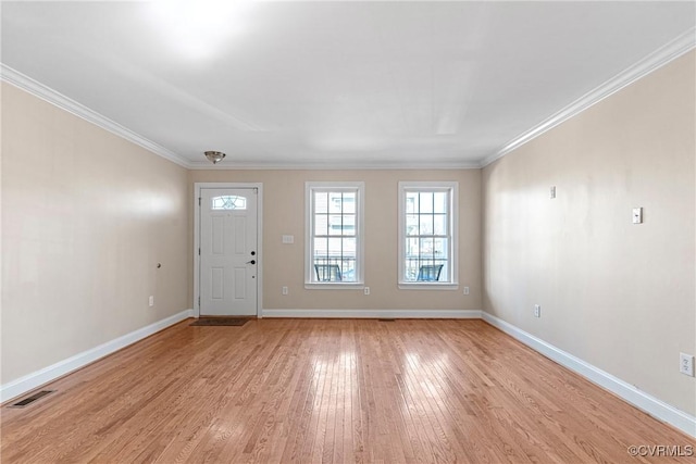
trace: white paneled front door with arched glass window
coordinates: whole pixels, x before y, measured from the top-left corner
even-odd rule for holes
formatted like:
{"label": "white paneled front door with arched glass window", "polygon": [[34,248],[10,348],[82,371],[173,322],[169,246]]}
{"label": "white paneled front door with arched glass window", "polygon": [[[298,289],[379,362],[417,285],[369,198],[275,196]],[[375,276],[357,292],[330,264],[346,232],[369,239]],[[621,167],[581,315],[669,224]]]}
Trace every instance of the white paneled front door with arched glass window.
{"label": "white paneled front door with arched glass window", "polygon": [[257,189],[200,191],[200,315],[256,315]]}

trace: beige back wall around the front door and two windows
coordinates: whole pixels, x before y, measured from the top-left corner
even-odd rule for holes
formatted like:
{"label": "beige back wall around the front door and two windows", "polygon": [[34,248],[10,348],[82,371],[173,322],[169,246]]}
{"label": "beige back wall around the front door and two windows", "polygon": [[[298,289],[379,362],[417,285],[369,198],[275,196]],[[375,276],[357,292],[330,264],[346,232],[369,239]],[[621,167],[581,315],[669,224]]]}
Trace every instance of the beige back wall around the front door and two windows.
{"label": "beige back wall around the front door and two windows", "polygon": [[[370,287],[370,296],[362,290],[304,289],[304,183],[308,180],[365,183],[365,285]],[[459,181],[458,290],[399,290],[397,287],[399,180]],[[480,170],[191,171],[191,198],[194,183],[211,181],[263,183],[264,309],[481,310]],[[192,224],[192,212],[190,222]],[[283,235],[294,235],[295,243],[283,244]],[[282,294],[283,286],[289,288],[288,296]],[[469,296],[463,294],[463,286],[471,288]]]}

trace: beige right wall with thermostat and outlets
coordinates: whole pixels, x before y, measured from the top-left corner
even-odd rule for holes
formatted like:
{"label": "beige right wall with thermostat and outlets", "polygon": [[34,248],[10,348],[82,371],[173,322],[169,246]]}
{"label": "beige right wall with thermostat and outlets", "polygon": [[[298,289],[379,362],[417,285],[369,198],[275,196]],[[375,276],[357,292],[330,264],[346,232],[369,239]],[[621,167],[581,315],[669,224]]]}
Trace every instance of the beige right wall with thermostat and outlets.
{"label": "beige right wall with thermostat and outlets", "polygon": [[691,52],[483,174],[485,311],[692,415],[694,66]]}

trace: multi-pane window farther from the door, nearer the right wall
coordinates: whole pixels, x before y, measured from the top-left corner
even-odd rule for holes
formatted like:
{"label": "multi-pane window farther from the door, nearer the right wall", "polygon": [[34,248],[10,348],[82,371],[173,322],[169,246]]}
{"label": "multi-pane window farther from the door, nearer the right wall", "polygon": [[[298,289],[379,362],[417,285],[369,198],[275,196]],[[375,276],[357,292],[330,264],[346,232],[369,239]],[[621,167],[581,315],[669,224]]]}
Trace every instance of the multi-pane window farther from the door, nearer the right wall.
{"label": "multi-pane window farther from the door, nearer the right wall", "polygon": [[457,183],[399,183],[399,286],[457,288]]}

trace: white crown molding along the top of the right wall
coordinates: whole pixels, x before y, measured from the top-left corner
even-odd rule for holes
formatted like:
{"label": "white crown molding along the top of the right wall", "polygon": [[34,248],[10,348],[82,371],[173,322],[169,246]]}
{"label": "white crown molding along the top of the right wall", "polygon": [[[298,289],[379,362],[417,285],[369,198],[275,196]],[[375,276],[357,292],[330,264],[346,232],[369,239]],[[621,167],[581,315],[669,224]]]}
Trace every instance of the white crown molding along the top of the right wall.
{"label": "white crown molding along the top of the right wall", "polygon": [[611,79],[601,84],[599,87],[591,90],[585,93],[577,100],[570,103],[568,106],[558,111],[557,113],[550,115],[546,120],[542,121],[536,126],[531,129],[522,133],[514,139],[510,140],[502,148],[500,148],[497,152],[484,158],[481,161],[478,167],[485,167],[494,161],[505,156],[506,154],[514,151],[520,148],[524,143],[530,140],[535,139],[542,134],[552,129],[559,124],[570,120],[571,117],[576,116],[583,111],[587,110],[589,106],[600,102],[607,97],[618,92],[622,88],[633,84],[634,81],[645,77],[646,75],[652,73],[661,66],[670,63],[673,60],[676,60],[684,53],[693,50],[696,47],[696,27],[692,27],[686,33],[676,37],[674,40],[669,43],[660,47],[652,53],[645,57],[643,60],[638,61],[634,65],[627,67],[621,73],[613,76]]}

